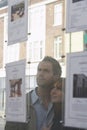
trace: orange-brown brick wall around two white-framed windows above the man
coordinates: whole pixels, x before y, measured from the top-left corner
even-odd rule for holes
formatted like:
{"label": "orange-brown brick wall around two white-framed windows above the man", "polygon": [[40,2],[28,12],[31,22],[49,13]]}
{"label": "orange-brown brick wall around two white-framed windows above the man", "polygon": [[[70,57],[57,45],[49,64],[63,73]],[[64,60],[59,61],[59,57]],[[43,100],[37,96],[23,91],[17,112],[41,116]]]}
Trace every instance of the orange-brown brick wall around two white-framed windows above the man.
{"label": "orange-brown brick wall around two white-framed windows above the man", "polygon": [[[63,24],[60,26],[54,26],[54,5],[60,2],[49,3],[46,6],[46,55],[54,56],[54,37],[63,36],[62,31]],[[64,5],[64,3],[63,3]],[[64,16],[64,14],[63,14]],[[64,20],[64,17],[63,17]],[[64,40],[64,39],[63,39]],[[64,43],[64,42],[63,42]],[[50,49],[49,49],[50,47]],[[49,51],[48,51],[49,50]],[[64,50],[63,50],[64,51]]]}

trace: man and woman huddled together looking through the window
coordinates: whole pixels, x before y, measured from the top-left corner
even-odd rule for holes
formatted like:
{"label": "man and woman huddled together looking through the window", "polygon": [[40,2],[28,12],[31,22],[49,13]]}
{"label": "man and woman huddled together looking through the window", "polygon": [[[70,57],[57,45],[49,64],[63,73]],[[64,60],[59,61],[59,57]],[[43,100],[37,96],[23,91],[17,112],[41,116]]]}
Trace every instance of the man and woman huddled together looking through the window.
{"label": "man and woman huddled together looking through the window", "polygon": [[28,122],[6,122],[5,130],[75,130],[62,125],[61,66],[50,56],[37,68],[37,85],[27,96]]}

